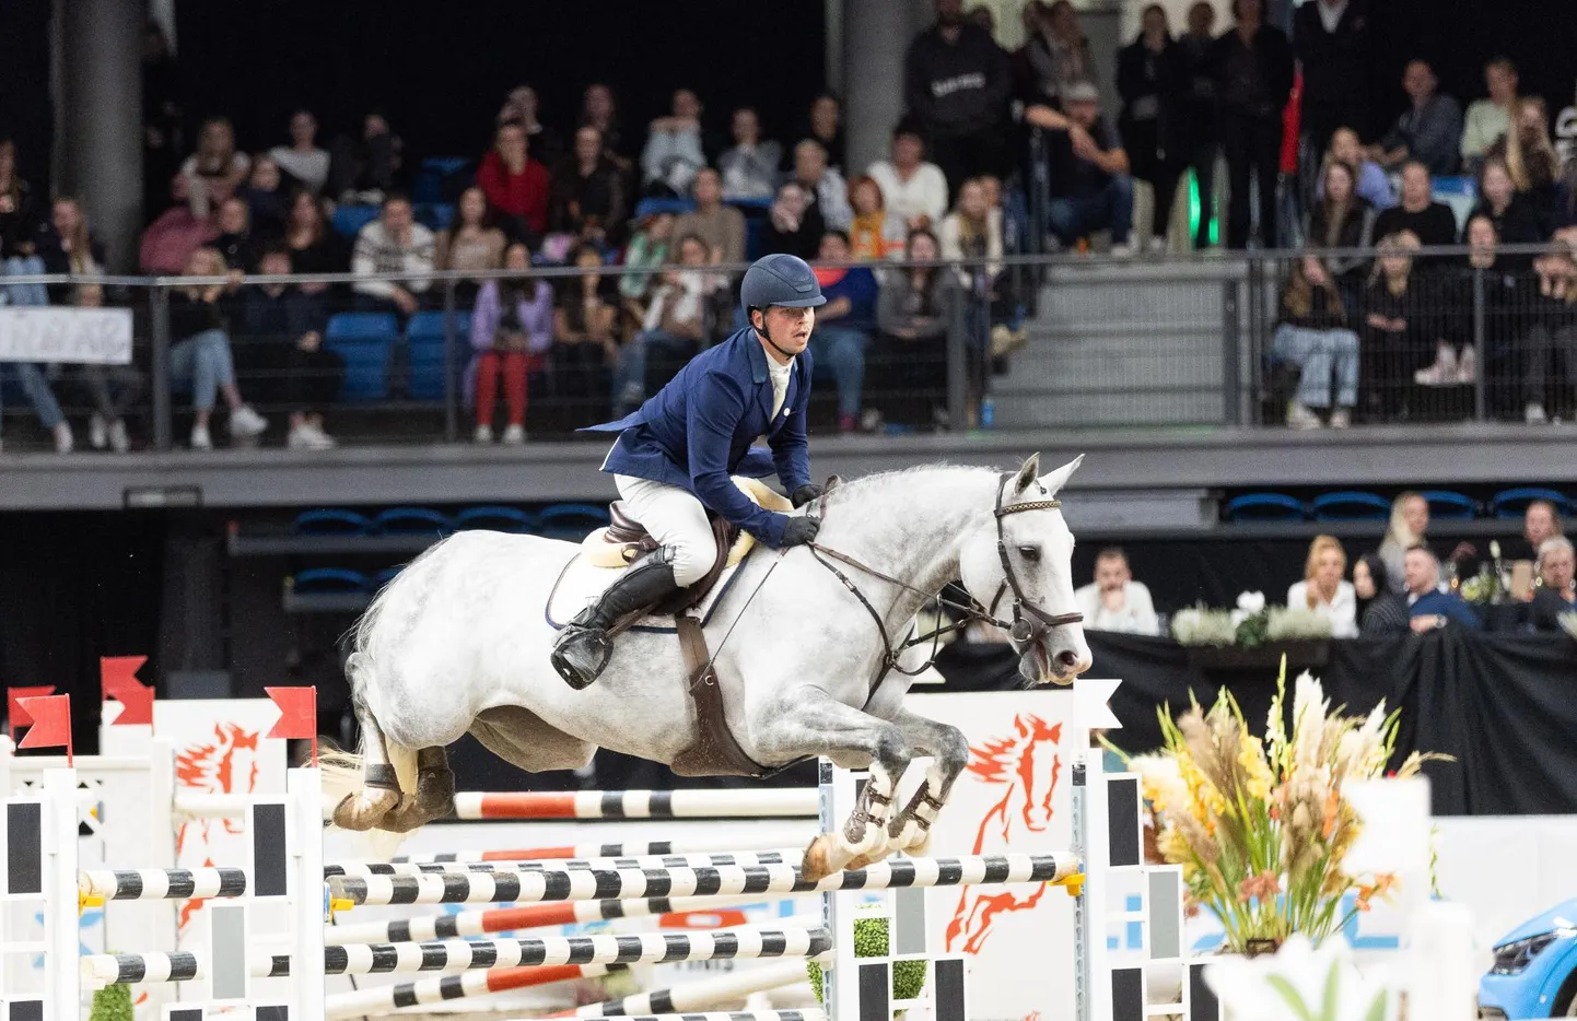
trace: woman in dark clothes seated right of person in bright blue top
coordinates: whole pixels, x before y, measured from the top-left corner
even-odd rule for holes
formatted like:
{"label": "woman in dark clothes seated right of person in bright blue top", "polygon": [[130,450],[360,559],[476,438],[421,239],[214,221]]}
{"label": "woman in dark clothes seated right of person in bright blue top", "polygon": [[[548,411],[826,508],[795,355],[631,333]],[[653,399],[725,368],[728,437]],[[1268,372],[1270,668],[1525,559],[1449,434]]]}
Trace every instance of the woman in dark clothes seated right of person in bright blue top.
{"label": "woman in dark clothes seated right of person in bright blue top", "polygon": [[[883,414],[902,416],[910,424],[941,429],[948,422],[946,337],[957,301],[957,279],[935,265],[941,257],[937,235],[912,230],[904,249],[904,262],[912,263],[883,282],[877,299],[878,350],[886,370],[886,408],[871,408],[861,416],[866,432],[877,432]],[[815,336],[815,334],[812,334]]]}

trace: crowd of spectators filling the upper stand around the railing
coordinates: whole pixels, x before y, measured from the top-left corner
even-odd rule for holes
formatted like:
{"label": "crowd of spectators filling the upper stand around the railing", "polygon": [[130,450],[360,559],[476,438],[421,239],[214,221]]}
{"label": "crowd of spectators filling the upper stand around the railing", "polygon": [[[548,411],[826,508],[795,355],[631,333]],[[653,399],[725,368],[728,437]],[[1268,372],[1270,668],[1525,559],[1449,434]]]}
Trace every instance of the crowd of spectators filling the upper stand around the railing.
{"label": "crowd of spectators filling the upper stand around the railing", "polygon": [[[1236,0],[1222,33],[1213,6],[1197,3],[1176,36],[1153,5],[1117,54],[1121,113],[1109,123],[1072,3],[1030,0],[1027,41],[1009,54],[989,11],[937,0],[935,24],[908,49],[907,115],[888,156],[864,169],[847,165],[831,95],[787,132],[754,109],[727,110],[719,139],[703,98],[688,88],[640,132],[621,120],[606,84],[587,87],[576,123],[558,126],[538,118],[536,91],[522,85],[505,98],[448,222],[424,216],[404,191],[413,167],[383,113],[325,148],[317,120],[301,110],[282,126],[285,140],[251,151],[216,117],[181,154],[183,112],[164,85],[170,58],[155,44],[148,176],[169,191],[150,206],[139,268],[229,277],[183,288],[181,314],[172,315],[173,381],[191,392],[199,449],[213,443],[208,419],[221,397],[233,436],[267,429],[255,400],[284,411],[290,446],[333,446],[322,411],[342,366],[323,343],[328,315],[353,307],[404,323],[443,307],[448,288],[431,271],[582,269],[552,285],[454,285],[459,307],[473,310],[464,389],[478,441],[524,441],[528,397],[544,388],[580,402],[580,424],[615,414],[736,325],[736,274],[727,268],[770,252],[823,266],[833,301],[812,343],[837,392],[841,430],[948,424],[945,336],[954,323],[967,332],[973,425],[992,370],[1025,336],[1023,291],[1033,288],[1003,271],[1003,255],[1107,243],[1117,255],[1135,254],[1135,181],[1154,195],[1153,221],[1139,233],[1164,247],[1187,173],[1203,202],[1184,243],[1203,247],[1214,236],[1219,156],[1227,247],[1257,238],[1306,252],[1285,274],[1271,350],[1290,425],[1424,416],[1441,392],[1490,370],[1493,414],[1545,421],[1545,407],[1564,407],[1577,389],[1577,162],[1563,162],[1547,104],[1519,93],[1504,58],[1487,65],[1487,98],[1465,115],[1438,91],[1429,63],[1413,60],[1402,77],[1408,109],[1377,131],[1363,87],[1378,47],[1370,2],[1309,0],[1290,36],[1265,22],[1263,0]],[[1044,195],[1025,191],[1033,154],[1046,164]],[[1460,230],[1435,199],[1437,178],[1459,172],[1478,195]],[[1031,236],[1031,199],[1044,200],[1047,238]],[[369,208],[353,238],[334,228],[347,208]],[[1459,239],[1473,247],[1465,260],[1413,252]],[[1549,249],[1503,255],[1512,243]],[[69,197],[47,208],[17,178],[9,143],[0,143],[0,246],[9,273],[103,268],[84,210]],[[888,265],[929,258],[965,268]],[[244,282],[265,265],[367,279],[345,288]],[[405,279],[378,279],[393,274]],[[104,299],[87,285],[8,291],[13,303]],[[1471,314],[1476,304],[1487,304],[1487,328]],[[866,370],[872,361],[880,373]],[[55,447],[71,449],[52,394],[52,381],[71,383],[71,373],[9,369]],[[867,383],[874,375],[880,394]],[[93,446],[125,449],[137,373],[76,377],[91,399]]]}

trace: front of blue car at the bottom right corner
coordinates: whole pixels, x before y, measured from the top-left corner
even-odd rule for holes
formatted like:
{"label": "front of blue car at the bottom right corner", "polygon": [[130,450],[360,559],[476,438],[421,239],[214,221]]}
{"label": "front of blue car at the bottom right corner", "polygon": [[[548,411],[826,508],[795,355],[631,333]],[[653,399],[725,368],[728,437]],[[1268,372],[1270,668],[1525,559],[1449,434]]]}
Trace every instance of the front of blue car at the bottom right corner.
{"label": "front of blue car at the bottom right corner", "polygon": [[1495,944],[1495,967],[1479,978],[1479,1018],[1577,1018],[1577,900]]}

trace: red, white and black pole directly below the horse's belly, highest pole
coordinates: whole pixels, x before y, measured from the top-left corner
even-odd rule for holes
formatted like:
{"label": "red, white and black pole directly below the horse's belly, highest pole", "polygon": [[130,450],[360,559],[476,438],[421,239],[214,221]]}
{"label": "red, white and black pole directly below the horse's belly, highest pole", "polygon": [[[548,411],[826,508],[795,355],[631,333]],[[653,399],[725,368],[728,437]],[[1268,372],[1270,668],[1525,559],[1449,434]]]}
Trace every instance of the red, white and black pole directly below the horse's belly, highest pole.
{"label": "red, white and black pole directly below the horse's belly, highest pole", "polygon": [[460,819],[724,819],[817,816],[815,788],[727,791],[516,791],[454,796]]}

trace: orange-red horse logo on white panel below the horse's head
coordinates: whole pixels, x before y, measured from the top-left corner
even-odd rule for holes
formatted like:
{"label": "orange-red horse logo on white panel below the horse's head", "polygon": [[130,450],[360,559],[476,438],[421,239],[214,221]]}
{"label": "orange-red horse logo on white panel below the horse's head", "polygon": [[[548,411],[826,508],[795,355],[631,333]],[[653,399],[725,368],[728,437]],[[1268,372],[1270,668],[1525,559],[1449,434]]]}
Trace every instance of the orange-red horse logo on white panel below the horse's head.
{"label": "orange-red horse logo on white panel below the horse's head", "polygon": [[[1061,723],[1047,726],[1039,717],[1017,715],[1011,736],[987,741],[982,748],[970,748],[968,772],[981,783],[1008,788],[981,819],[970,854],[1014,851],[1016,834],[1039,834],[1052,824],[1052,796],[1063,769],[1063,759],[1057,755],[1061,737]],[[960,947],[964,953],[979,953],[997,915],[1030,911],[1044,895],[1044,884],[1036,885],[1033,893],[964,887],[953,922],[948,923],[946,949],[951,952]]]}

